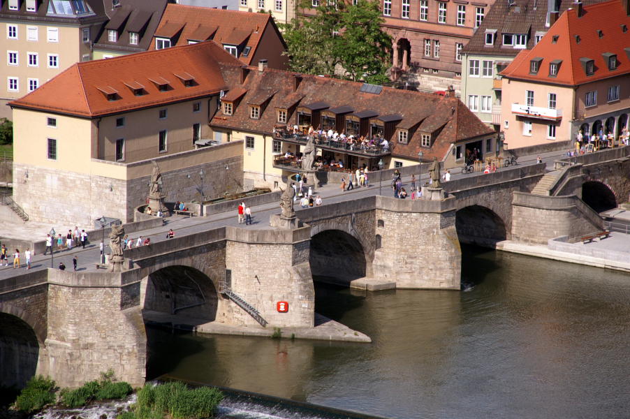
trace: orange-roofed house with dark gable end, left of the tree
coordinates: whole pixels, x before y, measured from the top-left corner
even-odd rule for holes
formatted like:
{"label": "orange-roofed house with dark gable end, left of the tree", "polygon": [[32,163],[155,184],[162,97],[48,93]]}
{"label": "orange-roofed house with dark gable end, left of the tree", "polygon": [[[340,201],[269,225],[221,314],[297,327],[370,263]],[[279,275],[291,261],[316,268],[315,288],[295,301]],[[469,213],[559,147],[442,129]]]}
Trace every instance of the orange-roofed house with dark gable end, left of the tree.
{"label": "orange-roofed house with dark gable end, left of the tree", "polygon": [[272,68],[286,68],[286,43],[268,13],[249,13],[169,4],[150,50],[212,39],[244,64],[266,59]]}

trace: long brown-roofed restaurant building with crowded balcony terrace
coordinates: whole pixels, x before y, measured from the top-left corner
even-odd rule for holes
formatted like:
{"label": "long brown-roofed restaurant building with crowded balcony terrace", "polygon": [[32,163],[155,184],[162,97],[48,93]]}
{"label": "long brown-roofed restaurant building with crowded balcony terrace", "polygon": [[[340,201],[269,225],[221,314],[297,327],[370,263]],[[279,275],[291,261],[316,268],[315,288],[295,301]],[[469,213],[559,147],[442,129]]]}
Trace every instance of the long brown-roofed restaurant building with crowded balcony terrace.
{"label": "long brown-roofed restaurant building with crowded balcony terrace", "polygon": [[[463,163],[466,150],[495,155],[496,133],[454,97],[390,87],[362,84],[335,78],[301,75],[289,71],[224,67],[231,89],[221,98],[222,108],[210,121],[215,132],[243,140],[245,181],[273,186],[298,171],[294,159],[307,142],[306,135],[287,132],[297,127],[307,132],[321,128],[354,138],[378,138],[362,147],[350,140],[328,140],[318,136],[318,160],[326,170],[330,162],[343,168],[366,166],[370,170],[383,161],[386,168],[418,164],[434,157],[445,168]],[[383,139],[387,146],[381,145]]]}

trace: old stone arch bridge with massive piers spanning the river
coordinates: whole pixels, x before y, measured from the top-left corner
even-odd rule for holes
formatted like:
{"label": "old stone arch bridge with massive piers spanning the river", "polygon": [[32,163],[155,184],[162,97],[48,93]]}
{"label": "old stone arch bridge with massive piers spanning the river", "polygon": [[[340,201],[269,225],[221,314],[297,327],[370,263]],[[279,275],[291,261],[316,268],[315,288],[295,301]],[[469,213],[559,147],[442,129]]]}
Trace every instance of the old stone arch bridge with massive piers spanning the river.
{"label": "old stone arch bridge with massive piers spanning the river", "polygon": [[[155,314],[261,328],[233,295],[268,328],[312,328],[314,277],[459,289],[460,241],[543,243],[601,228],[587,203],[624,202],[627,150],[559,161],[545,194],[531,193],[550,175],[544,165],[517,166],[448,182],[444,200],[369,196],[298,210],[294,230],[226,226],[127,249],[124,272],[49,269],[4,279],[0,385],[21,386],[38,373],[75,386],[110,368],[140,385],[145,323]],[[589,182],[605,188],[585,189]],[[288,312],[277,311],[279,301]]]}

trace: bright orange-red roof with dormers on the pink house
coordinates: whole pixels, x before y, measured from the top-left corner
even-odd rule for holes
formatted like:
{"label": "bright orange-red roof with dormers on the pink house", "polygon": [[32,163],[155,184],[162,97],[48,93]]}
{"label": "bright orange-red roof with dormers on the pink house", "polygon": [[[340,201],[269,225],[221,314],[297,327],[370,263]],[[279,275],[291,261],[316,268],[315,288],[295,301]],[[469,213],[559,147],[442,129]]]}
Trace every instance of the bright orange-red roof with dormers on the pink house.
{"label": "bright orange-red roof with dormers on the pink house", "polygon": [[[623,26],[627,28],[623,30]],[[600,32],[601,31],[601,36]],[[575,86],[630,73],[630,17],[621,0],[584,6],[583,15],[567,10],[538,45],[524,50],[501,74],[507,78]],[[608,69],[608,57],[617,55],[617,68]],[[537,73],[530,73],[530,61],[542,58]],[[587,75],[587,61],[594,72]],[[557,75],[550,64],[560,64]]]}

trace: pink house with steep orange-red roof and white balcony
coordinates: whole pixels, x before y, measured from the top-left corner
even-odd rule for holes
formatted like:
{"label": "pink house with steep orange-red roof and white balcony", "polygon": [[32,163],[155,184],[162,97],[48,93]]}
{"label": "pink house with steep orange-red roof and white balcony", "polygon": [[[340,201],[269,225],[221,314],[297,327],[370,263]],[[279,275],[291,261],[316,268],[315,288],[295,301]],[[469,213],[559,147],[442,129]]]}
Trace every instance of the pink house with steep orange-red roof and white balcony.
{"label": "pink house with steep orange-red roof and white balcony", "polygon": [[[579,131],[616,139],[630,108],[629,29],[627,0],[575,3],[520,52],[501,73],[509,147],[566,141]],[[595,147],[606,145],[597,140]]]}

